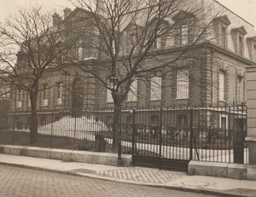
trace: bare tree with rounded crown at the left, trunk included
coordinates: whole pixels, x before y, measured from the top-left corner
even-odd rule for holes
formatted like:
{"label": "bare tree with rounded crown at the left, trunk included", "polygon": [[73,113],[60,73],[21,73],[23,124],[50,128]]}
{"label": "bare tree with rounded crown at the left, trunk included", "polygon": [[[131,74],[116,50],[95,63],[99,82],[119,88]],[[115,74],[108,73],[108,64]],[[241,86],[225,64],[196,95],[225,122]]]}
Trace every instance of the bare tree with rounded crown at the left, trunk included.
{"label": "bare tree with rounded crown at the left, trunk included", "polygon": [[20,9],[0,25],[1,84],[9,86],[12,98],[17,91],[31,100],[31,143],[38,141],[37,100],[39,81],[48,67],[55,67],[61,40],[58,17],[42,6]]}

